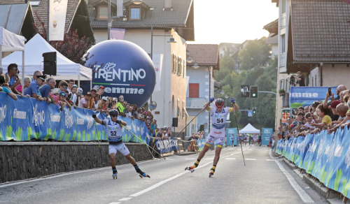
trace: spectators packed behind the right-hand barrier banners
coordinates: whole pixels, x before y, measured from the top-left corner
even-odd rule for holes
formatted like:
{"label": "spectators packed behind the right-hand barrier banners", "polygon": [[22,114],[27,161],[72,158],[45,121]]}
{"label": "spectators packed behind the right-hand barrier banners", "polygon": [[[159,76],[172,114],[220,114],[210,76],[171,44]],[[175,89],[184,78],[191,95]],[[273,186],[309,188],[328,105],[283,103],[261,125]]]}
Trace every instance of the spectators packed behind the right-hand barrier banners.
{"label": "spectators packed behind the right-hand barrier banners", "polygon": [[279,126],[279,138],[306,136],[326,130],[333,133],[337,129],[349,129],[350,126],[350,93],[344,85],[337,87],[334,93],[326,93],[324,101],[314,101],[311,106],[300,106],[293,115]]}

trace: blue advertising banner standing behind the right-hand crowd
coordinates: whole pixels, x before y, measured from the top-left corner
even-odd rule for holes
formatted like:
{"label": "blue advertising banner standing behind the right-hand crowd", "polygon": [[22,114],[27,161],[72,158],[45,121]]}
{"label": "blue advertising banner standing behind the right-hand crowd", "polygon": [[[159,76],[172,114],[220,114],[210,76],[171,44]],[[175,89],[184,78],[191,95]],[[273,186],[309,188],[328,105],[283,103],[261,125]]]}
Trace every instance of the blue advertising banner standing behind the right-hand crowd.
{"label": "blue advertising banner standing behind the right-hand crowd", "polygon": [[[332,87],[332,93],[337,97],[336,87]],[[309,106],[314,101],[324,101],[328,87],[290,87],[289,106],[298,108],[300,106]]]}

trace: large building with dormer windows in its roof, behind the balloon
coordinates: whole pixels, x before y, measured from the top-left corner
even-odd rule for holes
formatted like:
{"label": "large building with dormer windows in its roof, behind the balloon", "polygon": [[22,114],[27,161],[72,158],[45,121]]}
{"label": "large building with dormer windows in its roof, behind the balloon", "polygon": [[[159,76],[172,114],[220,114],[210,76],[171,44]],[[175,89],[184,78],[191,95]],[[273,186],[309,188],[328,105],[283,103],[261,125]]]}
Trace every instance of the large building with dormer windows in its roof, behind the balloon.
{"label": "large building with dormer windows in its roof, behind the balloon", "polygon": [[[87,5],[96,42],[108,40],[107,1],[90,0]],[[123,40],[139,45],[150,57],[151,52],[163,54],[160,91],[152,95],[157,103],[153,115],[160,127],[172,126],[177,118],[175,134],[186,126],[186,41],[195,38],[193,14],[193,0],[111,1],[111,15],[118,19],[111,25],[125,29]],[[168,43],[171,37],[176,43]]]}

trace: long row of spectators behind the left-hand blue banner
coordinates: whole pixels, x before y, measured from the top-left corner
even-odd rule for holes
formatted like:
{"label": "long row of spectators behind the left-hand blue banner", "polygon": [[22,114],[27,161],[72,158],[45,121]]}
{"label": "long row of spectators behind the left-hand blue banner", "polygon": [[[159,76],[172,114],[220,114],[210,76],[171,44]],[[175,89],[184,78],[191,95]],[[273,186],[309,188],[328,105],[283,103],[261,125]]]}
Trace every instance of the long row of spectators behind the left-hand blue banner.
{"label": "long row of spectators behind the left-hand blue banner", "polygon": [[[102,96],[105,89],[103,86],[98,89],[91,89],[90,92],[83,95],[83,89],[76,85],[75,80],[71,79],[68,82],[62,80],[57,86],[55,78],[48,78],[41,71],[35,71],[32,78],[25,77],[22,83],[18,77],[19,73],[17,64],[10,64],[7,73],[3,73],[2,68],[0,70],[0,92],[6,92],[13,100],[27,96],[38,101],[53,103],[59,106],[61,111],[65,107],[69,110],[72,108],[86,108],[105,113],[116,109],[122,117],[140,119],[146,122],[150,136],[160,138],[171,136],[169,129],[165,131],[164,128],[162,131],[157,129],[158,126],[156,120],[153,119],[151,110],[146,111],[144,107],[138,108],[137,105],[128,103],[123,95],[119,96],[118,99]],[[22,90],[24,90],[24,94],[22,94]]]}

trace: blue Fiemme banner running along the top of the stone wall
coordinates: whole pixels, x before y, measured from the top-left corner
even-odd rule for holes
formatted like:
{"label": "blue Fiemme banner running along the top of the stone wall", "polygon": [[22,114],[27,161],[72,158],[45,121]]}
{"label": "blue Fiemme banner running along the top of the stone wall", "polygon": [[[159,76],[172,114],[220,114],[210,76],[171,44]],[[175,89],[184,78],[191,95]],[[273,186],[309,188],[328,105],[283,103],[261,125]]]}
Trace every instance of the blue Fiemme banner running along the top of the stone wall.
{"label": "blue Fiemme banner running along the top of the stone wall", "polygon": [[[0,92],[0,140],[28,141],[31,139],[57,141],[92,141],[108,140],[106,128],[100,124],[95,126],[92,115],[107,119],[105,114],[99,114],[85,108],[64,108],[22,97],[14,101],[6,93]],[[127,129],[139,138],[149,143],[148,129],[145,122],[138,119],[120,117],[127,123]],[[97,131],[96,131],[97,127]],[[129,131],[123,129],[124,142],[142,143]]]}

